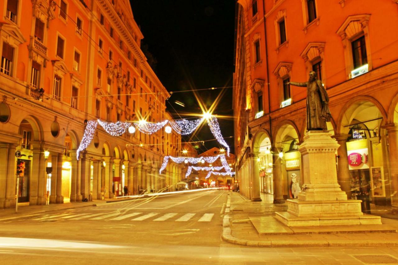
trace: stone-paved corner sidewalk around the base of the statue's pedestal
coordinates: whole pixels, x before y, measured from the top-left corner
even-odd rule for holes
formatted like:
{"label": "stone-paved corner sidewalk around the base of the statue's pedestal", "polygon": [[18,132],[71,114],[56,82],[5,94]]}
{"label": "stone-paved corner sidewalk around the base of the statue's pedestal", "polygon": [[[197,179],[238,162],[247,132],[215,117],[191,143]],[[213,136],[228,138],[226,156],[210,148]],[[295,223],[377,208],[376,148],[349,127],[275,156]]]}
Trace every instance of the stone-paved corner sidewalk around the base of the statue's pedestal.
{"label": "stone-paved corner sidewalk around the base of the statue's pedestal", "polygon": [[371,247],[398,246],[398,221],[382,218],[382,225],[312,226],[289,228],[275,211],[285,204],[252,202],[230,192],[224,212],[222,239],[253,247]]}

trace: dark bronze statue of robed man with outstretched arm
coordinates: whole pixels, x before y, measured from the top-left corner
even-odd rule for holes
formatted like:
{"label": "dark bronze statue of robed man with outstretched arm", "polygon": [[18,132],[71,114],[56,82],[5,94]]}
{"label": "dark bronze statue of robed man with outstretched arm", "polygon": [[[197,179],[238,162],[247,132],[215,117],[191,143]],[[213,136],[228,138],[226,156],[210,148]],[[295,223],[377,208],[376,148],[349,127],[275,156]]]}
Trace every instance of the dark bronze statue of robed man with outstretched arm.
{"label": "dark bronze statue of robed man with outstretched arm", "polygon": [[326,122],[332,117],[328,107],[329,97],[322,81],[316,78],[316,72],[310,72],[308,82],[287,84],[307,88],[307,130],[327,130]]}

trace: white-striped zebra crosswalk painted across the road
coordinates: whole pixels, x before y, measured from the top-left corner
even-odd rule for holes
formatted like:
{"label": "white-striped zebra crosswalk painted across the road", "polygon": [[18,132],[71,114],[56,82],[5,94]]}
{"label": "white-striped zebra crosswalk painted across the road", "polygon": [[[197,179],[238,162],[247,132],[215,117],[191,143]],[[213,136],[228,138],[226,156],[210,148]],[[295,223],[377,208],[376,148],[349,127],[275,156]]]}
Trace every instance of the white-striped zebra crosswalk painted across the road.
{"label": "white-striped zebra crosswalk painted across the road", "polygon": [[58,214],[39,214],[34,216],[30,220],[38,222],[46,221],[59,221],[59,220],[102,220],[108,221],[175,221],[175,222],[188,222],[195,220],[197,222],[211,222],[214,217],[214,213],[196,214],[196,213],[159,213],[159,212],[101,212],[101,213],[58,213]]}

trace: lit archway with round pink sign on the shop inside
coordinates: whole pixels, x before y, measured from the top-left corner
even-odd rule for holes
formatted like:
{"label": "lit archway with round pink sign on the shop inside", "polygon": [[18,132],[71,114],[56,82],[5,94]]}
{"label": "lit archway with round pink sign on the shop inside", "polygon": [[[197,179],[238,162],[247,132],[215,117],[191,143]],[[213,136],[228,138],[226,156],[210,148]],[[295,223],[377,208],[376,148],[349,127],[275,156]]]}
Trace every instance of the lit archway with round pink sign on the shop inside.
{"label": "lit archway with round pink sign on the shop inside", "polygon": [[384,109],[371,97],[353,99],[340,113],[338,129],[345,135],[345,141],[339,144],[345,144],[347,148],[348,172],[345,182],[350,184],[343,190],[347,190],[347,193],[351,191],[348,197],[363,193],[376,205],[391,203],[387,133],[382,129],[385,122]]}

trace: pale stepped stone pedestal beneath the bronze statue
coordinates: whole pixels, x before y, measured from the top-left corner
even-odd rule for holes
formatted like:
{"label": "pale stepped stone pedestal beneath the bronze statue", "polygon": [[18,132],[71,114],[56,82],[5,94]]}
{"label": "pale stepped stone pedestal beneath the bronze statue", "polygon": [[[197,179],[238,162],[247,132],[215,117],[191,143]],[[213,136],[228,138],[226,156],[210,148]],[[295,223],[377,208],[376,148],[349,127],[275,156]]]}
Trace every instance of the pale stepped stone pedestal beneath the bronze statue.
{"label": "pale stepped stone pedestal beneath the bronze statue", "polygon": [[381,224],[380,216],[364,215],[360,200],[347,200],[336,172],[339,144],[331,133],[309,131],[298,150],[302,155],[304,184],[298,199],[287,200],[287,212],[275,218],[287,226]]}

